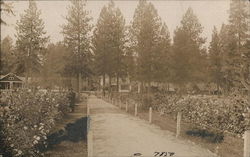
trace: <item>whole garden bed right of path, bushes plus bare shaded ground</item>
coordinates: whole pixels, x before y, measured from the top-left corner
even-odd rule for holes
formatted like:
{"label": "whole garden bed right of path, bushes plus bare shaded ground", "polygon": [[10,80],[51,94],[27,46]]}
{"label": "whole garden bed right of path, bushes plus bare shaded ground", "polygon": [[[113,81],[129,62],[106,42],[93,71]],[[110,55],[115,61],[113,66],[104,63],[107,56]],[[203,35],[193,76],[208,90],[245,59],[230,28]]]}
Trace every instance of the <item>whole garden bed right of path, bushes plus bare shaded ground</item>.
{"label": "whole garden bed right of path, bushes plus bare shaded ground", "polygon": [[152,107],[152,123],[173,133],[176,133],[177,112],[182,112],[181,138],[193,141],[221,157],[243,155],[242,135],[246,127],[244,113],[249,108],[245,96],[157,93],[149,96],[120,95],[119,99],[124,104],[129,102],[128,113],[132,115],[135,112],[134,104],[137,103],[138,117],[147,121],[149,107]]}

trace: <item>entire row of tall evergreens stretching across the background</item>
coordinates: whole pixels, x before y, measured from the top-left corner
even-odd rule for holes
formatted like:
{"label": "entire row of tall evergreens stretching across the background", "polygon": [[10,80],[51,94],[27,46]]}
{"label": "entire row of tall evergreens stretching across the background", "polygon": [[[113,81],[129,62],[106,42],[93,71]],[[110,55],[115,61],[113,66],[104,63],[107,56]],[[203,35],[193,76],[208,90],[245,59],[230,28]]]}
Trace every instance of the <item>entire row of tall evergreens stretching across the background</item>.
{"label": "entire row of tall evergreens stretching across the background", "polygon": [[[232,0],[229,20],[214,27],[206,48],[203,26],[192,8],[174,30],[173,40],[151,2],[140,0],[133,20],[125,18],[114,1],[105,5],[97,23],[86,10],[86,1],[71,0],[64,40],[49,42],[41,11],[34,1],[16,24],[16,43],[10,37],[1,41],[1,74],[82,78],[129,78],[143,86],[173,83],[180,91],[188,84],[214,83],[230,92],[249,86],[250,14],[249,2]],[[103,79],[105,80],[105,79]],[[111,80],[111,79],[109,79]],[[79,81],[77,81],[79,82]],[[104,86],[111,86],[103,82]]]}

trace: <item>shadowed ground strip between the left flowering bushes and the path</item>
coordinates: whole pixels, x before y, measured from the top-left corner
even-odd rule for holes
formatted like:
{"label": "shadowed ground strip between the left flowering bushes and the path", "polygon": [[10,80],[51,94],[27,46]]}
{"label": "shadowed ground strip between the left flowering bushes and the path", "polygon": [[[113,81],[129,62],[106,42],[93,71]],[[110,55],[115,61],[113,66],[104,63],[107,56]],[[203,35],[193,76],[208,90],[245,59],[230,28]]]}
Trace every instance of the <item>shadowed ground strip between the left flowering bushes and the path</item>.
{"label": "shadowed ground strip between the left flowering bushes and the path", "polygon": [[86,103],[76,106],[75,112],[62,119],[48,137],[48,157],[87,157]]}

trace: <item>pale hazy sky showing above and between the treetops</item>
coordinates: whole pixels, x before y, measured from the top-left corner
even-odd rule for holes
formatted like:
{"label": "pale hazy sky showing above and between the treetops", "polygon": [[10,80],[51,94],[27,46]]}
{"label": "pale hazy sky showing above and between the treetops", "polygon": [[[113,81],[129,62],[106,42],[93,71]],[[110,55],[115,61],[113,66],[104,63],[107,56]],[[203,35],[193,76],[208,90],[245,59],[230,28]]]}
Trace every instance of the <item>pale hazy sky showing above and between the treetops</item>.
{"label": "pale hazy sky showing above and between the treetops", "polygon": [[[9,35],[15,41],[15,25],[19,20],[20,14],[28,8],[28,1],[9,1],[13,3],[15,16],[8,16],[2,14],[1,17],[8,23],[7,26],[1,26],[1,39]],[[69,1],[36,1],[38,9],[41,10],[41,18],[45,23],[45,30],[50,36],[50,42],[56,43],[63,40],[61,34],[61,25],[65,23],[65,16],[67,15],[67,6]],[[90,11],[90,16],[93,17],[92,24],[95,24],[100,11],[108,0],[89,0],[87,1],[86,9]],[[150,1],[158,10],[158,15],[167,24],[171,37],[176,26],[180,25],[183,14],[188,7],[193,8],[201,25],[204,27],[203,37],[207,38],[207,44],[211,40],[213,27],[220,29],[222,23],[228,21],[229,0],[154,0]],[[115,0],[115,4],[120,8],[129,25],[133,19],[135,8],[138,5],[136,0]]]}

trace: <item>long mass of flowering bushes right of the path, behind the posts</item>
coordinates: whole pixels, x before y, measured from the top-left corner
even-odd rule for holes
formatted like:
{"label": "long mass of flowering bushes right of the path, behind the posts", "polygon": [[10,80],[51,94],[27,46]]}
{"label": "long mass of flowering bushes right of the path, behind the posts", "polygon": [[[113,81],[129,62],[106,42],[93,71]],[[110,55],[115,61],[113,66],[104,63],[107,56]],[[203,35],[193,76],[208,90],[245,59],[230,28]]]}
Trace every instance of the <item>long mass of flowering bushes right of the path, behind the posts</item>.
{"label": "long mass of flowering bushes right of the path, behind the posts", "polygon": [[121,100],[132,99],[139,104],[138,110],[148,110],[152,107],[159,114],[182,112],[182,120],[192,123],[201,129],[229,132],[242,135],[246,129],[244,113],[247,112],[249,103],[245,96],[232,94],[230,96],[215,95],[176,95],[154,93],[129,94],[121,96]]}

